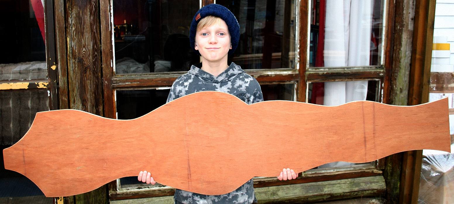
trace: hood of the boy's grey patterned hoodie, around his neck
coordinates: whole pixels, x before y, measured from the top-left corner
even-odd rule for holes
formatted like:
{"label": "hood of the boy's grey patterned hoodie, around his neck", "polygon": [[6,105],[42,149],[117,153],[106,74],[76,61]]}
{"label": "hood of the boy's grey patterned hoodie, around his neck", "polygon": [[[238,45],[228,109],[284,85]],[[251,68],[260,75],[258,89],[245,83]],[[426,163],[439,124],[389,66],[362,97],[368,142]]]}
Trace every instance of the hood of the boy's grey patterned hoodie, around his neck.
{"label": "hood of the boy's grey patterned hoodie, around his neck", "polygon": [[216,77],[194,65],[191,66],[191,70],[189,70],[189,73],[196,75],[202,81],[217,84],[220,82],[227,82],[233,80],[233,78],[235,78],[238,74],[246,72],[242,70],[239,65],[236,65],[235,63],[232,62],[227,67],[227,70],[224,70],[221,74],[219,74]]}

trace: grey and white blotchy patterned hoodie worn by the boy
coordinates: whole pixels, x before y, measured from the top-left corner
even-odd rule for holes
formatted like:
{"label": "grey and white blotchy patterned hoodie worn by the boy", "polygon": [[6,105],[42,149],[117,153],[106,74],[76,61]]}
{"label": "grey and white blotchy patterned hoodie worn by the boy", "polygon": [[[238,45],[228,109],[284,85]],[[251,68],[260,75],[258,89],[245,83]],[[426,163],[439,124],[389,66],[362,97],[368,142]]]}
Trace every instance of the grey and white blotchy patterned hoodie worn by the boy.
{"label": "grey and white blotchy patterned hoodie worn by the boy", "polygon": [[[221,91],[237,96],[247,104],[263,101],[257,80],[232,62],[217,77],[192,65],[187,74],[173,82],[167,102],[199,91]],[[241,169],[238,169],[241,171]],[[216,172],[207,172],[216,174]],[[256,203],[252,179],[223,195],[203,195],[177,189],[173,197],[184,204],[251,204]]]}

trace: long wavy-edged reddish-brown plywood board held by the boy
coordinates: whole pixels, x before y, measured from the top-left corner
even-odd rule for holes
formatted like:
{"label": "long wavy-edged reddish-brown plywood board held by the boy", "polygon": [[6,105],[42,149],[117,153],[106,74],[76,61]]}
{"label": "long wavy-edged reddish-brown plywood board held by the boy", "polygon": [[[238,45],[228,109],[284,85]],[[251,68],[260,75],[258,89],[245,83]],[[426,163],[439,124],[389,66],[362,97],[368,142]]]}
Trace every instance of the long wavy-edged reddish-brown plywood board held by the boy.
{"label": "long wavy-edged reddish-brown plywood board held by the boy", "polygon": [[24,174],[48,197],[85,193],[143,169],[177,189],[225,194],[254,176],[277,176],[284,167],[302,172],[414,149],[449,152],[447,103],[248,105],[230,94],[204,91],[131,120],[45,111],[19,142],[3,150],[5,169]]}

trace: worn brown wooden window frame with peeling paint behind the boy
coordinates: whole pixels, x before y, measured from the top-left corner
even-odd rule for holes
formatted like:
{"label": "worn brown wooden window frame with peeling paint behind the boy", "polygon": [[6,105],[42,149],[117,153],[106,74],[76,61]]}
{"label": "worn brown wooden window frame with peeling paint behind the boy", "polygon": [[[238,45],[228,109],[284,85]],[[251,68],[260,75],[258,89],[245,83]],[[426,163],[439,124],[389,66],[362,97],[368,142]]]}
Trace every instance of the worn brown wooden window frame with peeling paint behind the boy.
{"label": "worn brown wooden window frame with peeling paint behind the boy", "polygon": [[[201,0],[202,5],[214,3],[214,0]],[[309,15],[310,15],[310,1],[307,4],[301,4],[300,1],[295,2],[296,8],[299,8],[299,13],[296,13],[296,47],[299,50],[296,57],[297,69],[266,69],[266,70],[246,70],[247,74],[255,77],[261,84],[273,83],[296,83],[296,101],[306,102],[306,89],[307,83],[310,82],[326,82],[337,80],[380,80],[380,93],[383,93],[381,99],[383,103],[387,103],[389,91],[389,55],[381,55],[380,66],[361,66],[361,67],[311,67],[309,68],[307,55],[308,55],[308,34],[309,34]],[[389,8],[391,7],[391,8]],[[101,23],[101,44],[103,47],[102,52],[102,71],[103,71],[103,89],[104,89],[104,117],[116,118],[115,107],[115,90],[132,90],[132,89],[146,89],[156,87],[171,86],[173,81],[185,72],[171,72],[171,73],[147,73],[147,74],[122,74],[115,75],[114,73],[114,43],[113,43],[113,5],[112,0],[100,0],[100,8],[109,8],[100,10],[100,23]],[[392,10],[394,4],[392,1],[385,0],[385,10]],[[393,23],[394,19],[384,16],[384,22]],[[307,23],[305,23],[307,22]],[[307,25],[306,25],[307,24]],[[306,25],[306,26],[302,26]],[[384,51],[390,48],[390,42],[387,39],[392,33],[392,27],[386,26],[383,30],[383,44]],[[386,34],[386,35],[385,35]],[[301,40],[307,39],[307,40]],[[303,59],[303,60],[302,60]],[[360,177],[373,177],[383,176],[385,159],[379,159],[375,162],[373,168],[366,169],[352,169],[343,172],[320,172],[314,174],[299,174],[298,179],[291,181],[279,181],[277,179],[261,178],[254,181],[254,187],[270,187],[287,184],[304,184],[315,181],[331,181],[337,179],[353,179]],[[117,180],[109,184],[109,199],[122,200],[122,199],[137,199],[173,195],[174,189],[170,187],[156,187],[150,189],[137,189],[137,190],[118,190]],[[380,191],[381,192],[381,191]],[[366,194],[367,195],[367,194]],[[364,196],[364,194],[362,194]],[[370,196],[376,196],[376,192],[372,192]]]}

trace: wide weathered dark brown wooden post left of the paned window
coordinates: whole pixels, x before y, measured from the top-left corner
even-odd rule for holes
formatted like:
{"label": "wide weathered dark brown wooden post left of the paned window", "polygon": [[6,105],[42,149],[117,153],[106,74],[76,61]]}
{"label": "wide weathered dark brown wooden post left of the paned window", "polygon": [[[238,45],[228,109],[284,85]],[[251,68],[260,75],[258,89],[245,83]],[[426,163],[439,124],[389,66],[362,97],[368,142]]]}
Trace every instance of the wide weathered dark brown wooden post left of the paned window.
{"label": "wide weathered dark brown wooden post left of the paned window", "polygon": [[99,1],[65,2],[69,108],[103,115]]}

